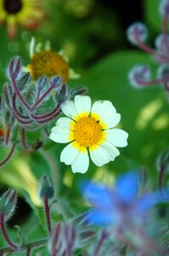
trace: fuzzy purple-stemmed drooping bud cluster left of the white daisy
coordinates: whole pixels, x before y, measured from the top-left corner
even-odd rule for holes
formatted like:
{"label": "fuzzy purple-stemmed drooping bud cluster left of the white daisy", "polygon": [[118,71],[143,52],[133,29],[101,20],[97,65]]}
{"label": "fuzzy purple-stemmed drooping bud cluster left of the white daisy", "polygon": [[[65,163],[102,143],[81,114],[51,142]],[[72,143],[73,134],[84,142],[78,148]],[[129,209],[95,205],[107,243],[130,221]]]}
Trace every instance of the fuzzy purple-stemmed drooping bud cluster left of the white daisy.
{"label": "fuzzy purple-stemmed drooping bud cluster left of the white daisy", "polygon": [[[5,131],[4,145],[17,142],[25,150],[29,149],[25,142],[25,131],[42,131],[43,127],[48,128],[48,124],[61,113],[63,102],[77,93],[84,94],[87,91],[80,87],[70,90],[59,76],[47,79],[42,75],[37,82],[33,81],[30,73],[22,72],[19,56],[14,57],[8,65],[8,79],[9,82],[3,85],[3,94],[0,96],[0,119]],[[41,140],[40,136],[41,132],[37,141]],[[34,145],[31,145],[30,149],[32,148],[35,148]]]}

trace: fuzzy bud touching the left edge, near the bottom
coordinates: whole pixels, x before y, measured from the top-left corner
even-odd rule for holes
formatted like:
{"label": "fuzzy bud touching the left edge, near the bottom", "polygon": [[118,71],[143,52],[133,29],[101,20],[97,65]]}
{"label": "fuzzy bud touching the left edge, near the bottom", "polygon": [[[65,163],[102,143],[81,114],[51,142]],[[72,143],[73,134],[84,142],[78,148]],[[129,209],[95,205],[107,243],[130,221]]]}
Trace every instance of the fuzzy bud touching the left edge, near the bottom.
{"label": "fuzzy bud touching the left edge, near the bottom", "polygon": [[7,221],[14,214],[16,208],[17,195],[13,189],[8,189],[0,197],[0,215],[3,215],[4,220]]}

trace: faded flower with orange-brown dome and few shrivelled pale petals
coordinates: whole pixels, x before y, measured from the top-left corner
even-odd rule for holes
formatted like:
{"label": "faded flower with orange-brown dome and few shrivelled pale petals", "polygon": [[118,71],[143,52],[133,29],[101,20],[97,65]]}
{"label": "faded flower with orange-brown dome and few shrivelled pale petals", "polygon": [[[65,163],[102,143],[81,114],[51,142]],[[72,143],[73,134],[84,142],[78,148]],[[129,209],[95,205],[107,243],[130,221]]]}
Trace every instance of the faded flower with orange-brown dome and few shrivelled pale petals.
{"label": "faded flower with orange-brown dome and few shrivelled pale petals", "polygon": [[59,52],[50,49],[47,42],[42,49],[41,44],[35,44],[35,38],[31,39],[30,44],[31,62],[27,66],[31,77],[36,81],[42,75],[46,75],[48,79],[53,76],[60,76],[66,83],[69,79],[77,79],[79,75],[75,73],[68,65],[68,57],[63,50]]}

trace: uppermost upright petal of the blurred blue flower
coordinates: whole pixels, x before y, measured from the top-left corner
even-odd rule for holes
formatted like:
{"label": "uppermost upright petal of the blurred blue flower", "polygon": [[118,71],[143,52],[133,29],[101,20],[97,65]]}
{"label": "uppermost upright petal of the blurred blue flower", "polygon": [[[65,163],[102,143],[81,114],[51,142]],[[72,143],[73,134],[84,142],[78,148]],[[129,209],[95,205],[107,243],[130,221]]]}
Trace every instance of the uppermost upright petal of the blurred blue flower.
{"label": "uppermost upright petal of the blurred blue flower", "polygon": [[132,201],[138,192],[138,174],[135,172],[127,172],[127,174],[118,177],[115,189],[121,200],[125,202]]}

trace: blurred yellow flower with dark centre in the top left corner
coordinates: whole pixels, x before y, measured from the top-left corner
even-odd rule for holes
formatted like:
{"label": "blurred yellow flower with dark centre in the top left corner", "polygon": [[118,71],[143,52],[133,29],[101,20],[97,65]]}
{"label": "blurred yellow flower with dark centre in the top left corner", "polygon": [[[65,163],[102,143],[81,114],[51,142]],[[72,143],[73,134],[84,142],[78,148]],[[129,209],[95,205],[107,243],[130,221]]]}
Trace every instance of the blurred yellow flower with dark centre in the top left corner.
{"label": "blurred yellow flower with dark centre in the top left corner", "polygon": [[0,0],[0,24],[6,21],[9,38],[14,38],[16,27],[37,28],[44,17],[40,0]]}

